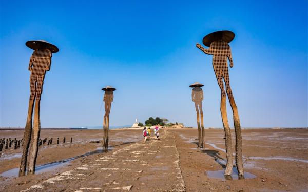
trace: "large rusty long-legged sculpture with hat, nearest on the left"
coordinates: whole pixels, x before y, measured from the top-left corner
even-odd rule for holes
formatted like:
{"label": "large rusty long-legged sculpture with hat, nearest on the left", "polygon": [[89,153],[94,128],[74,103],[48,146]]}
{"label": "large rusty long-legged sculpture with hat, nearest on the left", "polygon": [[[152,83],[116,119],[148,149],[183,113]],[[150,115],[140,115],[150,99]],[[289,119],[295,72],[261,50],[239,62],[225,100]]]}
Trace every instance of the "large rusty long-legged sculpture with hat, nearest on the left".
{"label": "large rusty long-legged sculpture with hat, nearest on the left", "polygon": [[[28,165],[27,174],[34,174],[35,163],[38,151],[38,138],[40,138],[40,101],[43,89],[43,82],[45,78],[46,71],[49,71],[51,64],[52,53],[56,53],[59,49],[44,40],[28,41],[26,46],[33,49],[32,56],[29,62],[30,75],[30,99],[28,108],[28,117],[24,132],[24,148],[23,155],[20,165],[19,176],[24,176],[26,168]],[[34,122],[32,130],[32,115],[33,115],[33,105],[34,107]],[[29,161],[28,150],[31,141],[30,151],[29,151]]]}

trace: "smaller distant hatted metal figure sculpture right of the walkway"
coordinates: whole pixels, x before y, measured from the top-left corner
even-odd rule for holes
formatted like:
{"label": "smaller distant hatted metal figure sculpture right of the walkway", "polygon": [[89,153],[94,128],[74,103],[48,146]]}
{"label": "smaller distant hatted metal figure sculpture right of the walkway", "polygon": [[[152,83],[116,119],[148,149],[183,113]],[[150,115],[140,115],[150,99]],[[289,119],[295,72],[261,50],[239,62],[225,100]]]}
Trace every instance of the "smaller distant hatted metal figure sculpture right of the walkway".
{"label": "smaller distant hatted metal figure sculpture right of the walkway", "polygon": [[[200,83],[194,83],[189,85],[189,87],[193,87],[191,91],[191,99],[195,102],[196,112],[197,112],[197,125],[198,125],[198,148],[204,148],[204,126],[203,126],[203,111],[202,111],[202,100],[203,100],[203,85]],[[200,119],[201,119],[201,127],[200,127]]]}

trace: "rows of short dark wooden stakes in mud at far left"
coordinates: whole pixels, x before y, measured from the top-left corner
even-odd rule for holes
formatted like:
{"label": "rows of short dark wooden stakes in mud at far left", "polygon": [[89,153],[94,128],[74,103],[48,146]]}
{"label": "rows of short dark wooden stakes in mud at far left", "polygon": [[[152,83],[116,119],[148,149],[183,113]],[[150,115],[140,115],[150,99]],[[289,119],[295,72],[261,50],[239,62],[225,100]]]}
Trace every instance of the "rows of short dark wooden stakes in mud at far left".
{"label": "rows of short dark wooden stakes in mud at far left", "polygon": [[[38,141],[38,146],[42,146],[42,144],[45,144],[46,142],[47,142],[47,145],[50,145],[50,144],[52,144],[52,139],[53,138],[49,139],[48,142],[47,142],[47,138],[45,138],[43,140],[40,139]],[[73,138],[70,138],[70,142],[71,143],[73,142]],[[59,138],[57,138],[56,144],[59,145],[59,143],[60,143]],[[63,143],[65,143],[65,137],[63,138]],[[14,139],[11,139],[11,138],[8,138],[8,139],[0,138],[0,151],[3,150],[3,146],[5,147],[5,149],[11,148],[12,144],[14,144],[14,149],[17,149],[20,146],[23,146],[24,142],[23,142],[23,139],[17,140],[16,138],[14,138]]]}

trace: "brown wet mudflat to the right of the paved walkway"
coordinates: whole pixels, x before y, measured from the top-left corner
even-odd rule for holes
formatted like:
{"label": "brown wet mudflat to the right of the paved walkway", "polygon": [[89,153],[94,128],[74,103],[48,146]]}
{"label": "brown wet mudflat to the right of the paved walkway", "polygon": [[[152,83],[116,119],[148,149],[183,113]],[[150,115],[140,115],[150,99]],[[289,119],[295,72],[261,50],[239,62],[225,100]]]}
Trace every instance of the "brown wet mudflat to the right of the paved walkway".
{"label": "brown wet mudflat to the right of the paved walkway", "polygon": [[[198,130],[174,132],[187,191],[308,191],[308,129],[242,130],[245,175],[255,178],[237,180],[235,175],[232,181],[222,176],[226,160],[222,129],[205,131],[204,150],[196,149]],[[233,132],[235,152],[234,144]]]}

